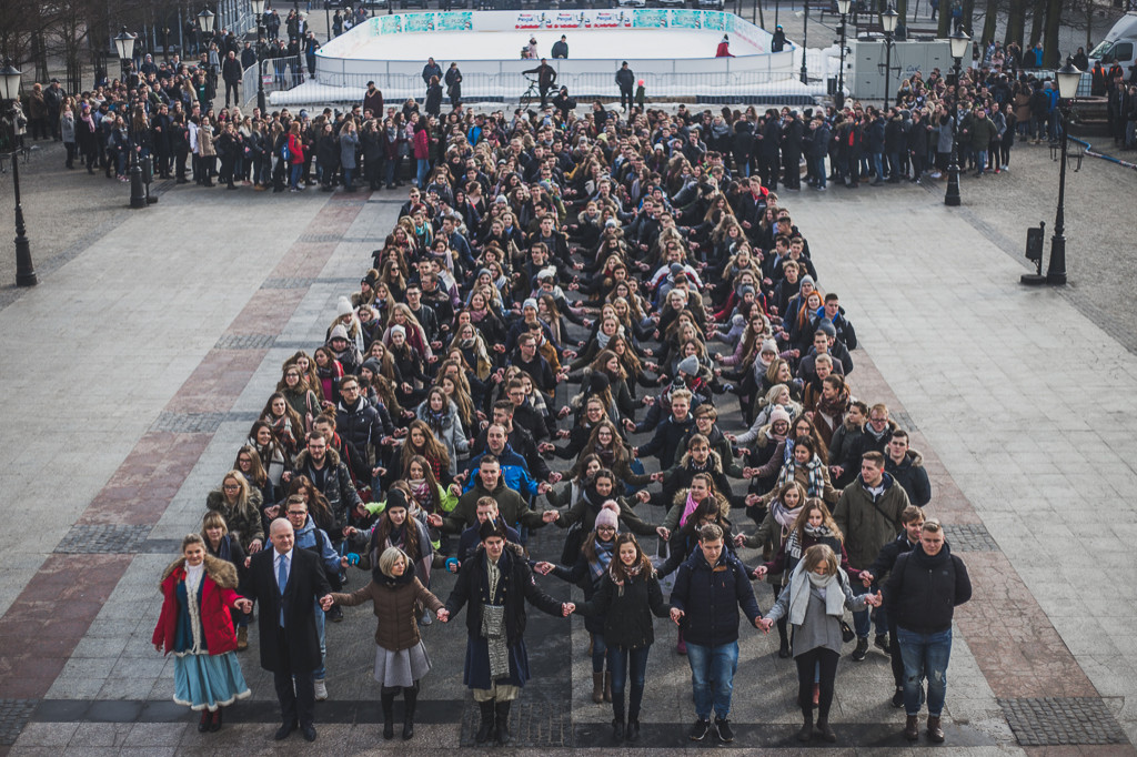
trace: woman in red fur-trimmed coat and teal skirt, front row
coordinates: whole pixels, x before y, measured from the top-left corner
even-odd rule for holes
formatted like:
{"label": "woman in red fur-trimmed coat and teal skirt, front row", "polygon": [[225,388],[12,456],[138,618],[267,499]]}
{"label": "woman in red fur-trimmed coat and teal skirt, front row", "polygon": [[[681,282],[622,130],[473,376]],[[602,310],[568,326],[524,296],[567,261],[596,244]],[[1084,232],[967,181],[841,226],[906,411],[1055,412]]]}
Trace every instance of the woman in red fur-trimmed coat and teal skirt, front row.
{"label": "woman in red fur-trimmed coat and teal skirt, front row", "polygon": [[182,540],[182,556],[161,574],[153,647],[174,652],[174,701],[201,712],[202,732],[219,730],[221,708],[249,696],[229,608],[248,613],[252,602],[235,589],[236,568],[207,554],[196,533]]}

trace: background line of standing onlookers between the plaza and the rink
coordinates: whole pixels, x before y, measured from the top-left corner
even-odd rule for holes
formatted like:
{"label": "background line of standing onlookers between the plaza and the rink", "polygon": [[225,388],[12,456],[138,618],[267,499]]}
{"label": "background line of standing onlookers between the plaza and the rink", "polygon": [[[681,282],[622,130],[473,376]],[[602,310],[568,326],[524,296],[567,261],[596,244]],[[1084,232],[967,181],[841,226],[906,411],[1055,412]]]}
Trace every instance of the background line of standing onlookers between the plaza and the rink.
{"label": "background line of standing onlookers between the plaza and the rink", "polygon": [[[291,36],[293,32],[297,36]],[[275,44],[281,55],[299,57],[294,66],[288,64],[276,75],[302,76],[299,61],[307,56],[308,68],[314,69],[317,43],[312,39],[305,47],[310,31],[291,22],[289,34],[288,47],[283,39]],[[526,72],[536,75],[539,108],[516,109],[512,115],[475,113],[463,102],[457,64],[443,70],[431,58],[423,67],[422,106],[413,98],[385,102],[382,90],[370,82],[362,102],[342,110],[309,114],[305,108],[296,113],[282,108],[263,114],[239,105],[241,74],[255,56],[248,43],[243,50],[238,44],[221,30],[209,42],[209,51],[193,64],[176,56],[155,64],[146,56],[139,70],[125,80],[74,95],[58,81],[45,88],[36,83],[23,106],[26,118],[20,116],[19,123],[33,140],[63,141],[68,168],[85,167],[90,174],[101,170],[119,181],[127,180],[133,151],[152,160],[159,178],[231,190],[299,192],[318,185],[324,191],[351,192],[359,186],[398,189],[406,182],[424,190],[428,175],[433,174],[440,177],[440,186],[457,196],[458,206],[471,200],[466,185],[471,177],[483,178],[484,169],[474,166],[473,174],[457,169],[459,161],[471,163],[472,156],[464,156],[456,140],[464,140],[471,152],[481,144],[501,150],[525,123],[554,135],[546,139],[546,151],[571,175],[571,182],[592,178],[580,175],[586,166],[592,170],[590,153],[596,142],[590,144],[590,136],[611,150],[609,132],[619,127],[637,134],[645,148],[637,173],[658,172],[670,196],[696,191],[696,170],[719,169],[715,185],[731,203],[747,191],[750,175],[757,175],[766,190],[781,186],[790,192],[802,189],[803,177],[806,186],[819,191],[830,182],[855,189],[862,182],[941,180],[948,173],[953,143],[962,170],[976,176],[1001,174],[1010,170],[1016,141],[1053,142],[1061,128],[1056,84],[1039,78],[1039,72],[1004,65],[998,50],[982,58],[982,65],[964,69],[958,84],[938,69],[927,76],[913,74],[901,83],[895,105],[887,109],[849,101],[840,109],[802,111],[788,107],[760,111],[750,106],[716,113],[681,107],[673,116],[647,106],[644,82],[626,63],[615,75],[622,113],[608,110],[599,100],[580,108],[567,88],[556,89],[555,70],[542,59]],[[218,45],[219,56],[215,55]],[[1119,144],[1132,147],[1137,85],[1127,83],[1118,66],[1098,68],[1093,70],[1094,91],[1110,100],[1110,128]],[[221,82],[225,106],[219,102]],[[448,113],[443,113],[443,88]],[[712,155],[729,163],[729,174],[707,160]],[[441,167],[447,170],[438,172]],[[639,184],[646,180],[637,176]],[[473,203],[482,202],[492,189],[479,181]],[[680,203],[688,201],[686,194],[680,196]]]}

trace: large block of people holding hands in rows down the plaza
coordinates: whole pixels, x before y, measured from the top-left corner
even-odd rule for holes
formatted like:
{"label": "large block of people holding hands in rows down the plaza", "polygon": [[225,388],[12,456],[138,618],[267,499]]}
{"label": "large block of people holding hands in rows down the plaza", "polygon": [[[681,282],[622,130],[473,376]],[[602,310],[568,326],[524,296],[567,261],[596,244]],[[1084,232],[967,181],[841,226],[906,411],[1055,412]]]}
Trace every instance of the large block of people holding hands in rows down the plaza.
{"label": "large block of people holding hands in rows down the plaza", "polygon": [[[376,113],[372,99],[318,131],[342,145]],[[563,642],[526,635],[529,605],[584,617],[592,699],[620,741],[640,737],[663,618],[691,669],[690,739],[733,741],[742,616],[795,659],[803,741],[836,740],[854,640],[854,667],[873,648],[890,657],[880,694],[904,708],[905,735],[920,738],[927,707],[927,737],[943,741],[966,569],[924,516],[919,451],[885,404],[858,397],[855,317],[773,176],[750,174],[733,142],[707,143],[728,114],[402,115],[383,117],[410,124],[416,145],[423,134],[426,165],[413,182],[387,174],[412,184],[398,221],[323,343],[283,361],[201,533],[164,574],[153,641],[177,656],[175,701],[221,727],[248,693],[238,660],[256,612],[275,737],[314,740],[340,607],[370,601],[382,737],[401,694],[409,739],[424,629],[465,610],[475,740],[507,744],[530,675],[567,674],[531,671],[526,644]],[[296,185],[313,130],[285,113],[273,124]],[[341,164],[347,186],[356,167]],[[559,554],[530,554],[529,534],[553,524]],[[553,579],[586,601],[550,598]]]}

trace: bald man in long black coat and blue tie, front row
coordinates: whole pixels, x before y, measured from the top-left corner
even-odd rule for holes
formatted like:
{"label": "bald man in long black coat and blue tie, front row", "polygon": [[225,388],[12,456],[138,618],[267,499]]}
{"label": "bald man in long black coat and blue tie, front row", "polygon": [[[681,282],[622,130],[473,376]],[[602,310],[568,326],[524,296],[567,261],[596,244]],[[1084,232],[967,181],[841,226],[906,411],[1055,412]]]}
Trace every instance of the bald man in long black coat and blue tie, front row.
{"label": "bald man in long black coat and blue tie, front row", "polygon": [[287,739],[299,726],[307,741],[315,741],[312,673],[321,659],[316,599],[331,605],[332,588],[319,558],[294,549],[296,534],[288,519],[273,521],[268,539],[273,549],[252,556],[240,593],[260,601],[260,667],[273,673],[283,718],[276,740]]}

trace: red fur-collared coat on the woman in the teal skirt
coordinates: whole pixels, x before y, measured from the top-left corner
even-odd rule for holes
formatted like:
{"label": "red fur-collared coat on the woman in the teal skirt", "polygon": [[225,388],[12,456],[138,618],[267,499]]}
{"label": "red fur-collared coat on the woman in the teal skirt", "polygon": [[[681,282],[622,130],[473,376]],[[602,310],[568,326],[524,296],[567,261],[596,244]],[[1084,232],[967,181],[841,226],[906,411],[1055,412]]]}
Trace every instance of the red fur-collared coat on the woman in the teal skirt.
{"label": "red fur-collared coat on the woman in the teal skirt", "polygon": [[[176,559],[161,580],[161,614],[151,642],[161,644],[168,655],[177,638],[177,582],[185,580],[184,559]],[[201,579],[201,629],[210,655],[224,655],[236,649],[236,634],[229,608],[240,599],[236,567],[232,563],[206,555],[206,575]]]}

